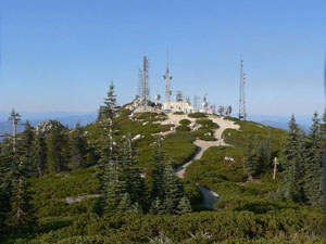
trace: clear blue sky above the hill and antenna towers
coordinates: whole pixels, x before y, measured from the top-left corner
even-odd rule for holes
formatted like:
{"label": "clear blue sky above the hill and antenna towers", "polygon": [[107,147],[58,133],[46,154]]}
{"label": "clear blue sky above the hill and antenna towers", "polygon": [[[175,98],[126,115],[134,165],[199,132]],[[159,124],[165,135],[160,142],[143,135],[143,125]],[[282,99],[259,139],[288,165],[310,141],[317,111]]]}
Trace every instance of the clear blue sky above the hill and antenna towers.
{"label": "clear blue sky above the hill and antenna towers", "polygon": [[134,99],[142,56],[152,98],[173,91],[249,115],[324,110],[325,0],[1,0],[0,111],[91,112],[110,80]]}

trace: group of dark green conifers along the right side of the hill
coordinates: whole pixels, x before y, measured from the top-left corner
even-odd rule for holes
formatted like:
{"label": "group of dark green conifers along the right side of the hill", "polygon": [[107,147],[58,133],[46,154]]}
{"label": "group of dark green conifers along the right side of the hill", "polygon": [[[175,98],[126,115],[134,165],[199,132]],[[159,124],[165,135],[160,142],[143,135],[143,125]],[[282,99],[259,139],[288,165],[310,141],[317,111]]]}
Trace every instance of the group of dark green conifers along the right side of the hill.
{"label": "group of dark green conifers along the right side of the hill", "polygon": [[283,183],[276,196],[315,207],[324,206],[323,157],[326,138],[326,113],[323,118],[314,113],[310,132],[306,134],[296,123],[289,121],[289,132],[279,152],[273,151],[272,138],[265,141],[248,137],[243,158],[243,172],[249,180],[272,174],[275,156],[278,154],[277,170]]}

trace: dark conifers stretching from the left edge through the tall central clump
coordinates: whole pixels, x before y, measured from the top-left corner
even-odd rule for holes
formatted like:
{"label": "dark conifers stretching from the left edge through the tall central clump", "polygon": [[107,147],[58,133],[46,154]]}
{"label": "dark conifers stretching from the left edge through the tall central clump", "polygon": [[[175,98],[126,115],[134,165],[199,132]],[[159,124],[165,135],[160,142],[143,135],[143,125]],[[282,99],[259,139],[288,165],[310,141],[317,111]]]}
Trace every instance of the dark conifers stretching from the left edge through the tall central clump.
{"label": "dark conifers stretching from the left edge through the tall central clump", "polygon": [[[118,116],[113,84],[101,106],[97,127],[100,136],[90,144],[78,123],[74,129],[57,120],[47,120],[33,128],[9,136],[0,143],[0,233],[27,233],[35,230],[30,178],[47,174],[96,166],[100,197],[92,206],[99,216],[115,213],[183,214],[191,211],[183,184],[174,174],[173,162],[163,162],[158,142],[156,168],[147,182],[137,167],[130,134],[122,137],[115,123]],[[12,111],[10,120],[20,124],[20,114]]]}

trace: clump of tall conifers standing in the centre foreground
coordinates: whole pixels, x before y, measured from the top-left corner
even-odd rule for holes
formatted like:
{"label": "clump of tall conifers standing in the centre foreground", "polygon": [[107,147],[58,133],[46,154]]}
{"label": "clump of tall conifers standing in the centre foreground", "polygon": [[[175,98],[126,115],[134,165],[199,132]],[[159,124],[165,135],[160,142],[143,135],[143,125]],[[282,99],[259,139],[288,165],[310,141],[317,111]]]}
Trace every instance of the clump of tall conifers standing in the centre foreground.
{"label": "clump of tall conifers standing in the centre foreground", "polygon": [[123,142],[115,139],[121,131],[114,121],[116,116],[118,116],[116,95],[114,86],[111,84],[104,106],[101,106],[101,116],[99,116],[99,125],[104,132],[101,158],[97,166],[101,196],[93,206],[93,210],[99,215],[116,211],[137,214],[191,211],[190,202],[185,195],[181,182],[175,176],[172,162],[163,162],[164,153],[160,141],[155,169],[152,172],[152,189],[146,188],[141,171],[136,166],[137,159],[130,134],[126,134]]}

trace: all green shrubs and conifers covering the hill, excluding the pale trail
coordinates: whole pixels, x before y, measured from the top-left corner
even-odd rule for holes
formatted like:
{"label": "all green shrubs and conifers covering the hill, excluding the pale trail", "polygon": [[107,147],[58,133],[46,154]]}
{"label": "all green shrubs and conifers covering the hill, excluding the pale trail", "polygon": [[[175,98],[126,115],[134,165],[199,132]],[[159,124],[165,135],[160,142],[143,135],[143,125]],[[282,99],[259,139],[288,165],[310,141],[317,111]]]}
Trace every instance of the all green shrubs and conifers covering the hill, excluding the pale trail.
{"label": "all green shrubs and conifers covering the hill, excluding the pale trail", "polygon": [[[193,141],[217,128],[191,116],[200,129],[163,137],[165,114],[117,107],[111,85],[87,127],[27,124],[0,143],[0,242],[324,243],[326,115],[314,115],[309,134],[294,117],[289,132],[228,117],[240,125],[223,134],[234,146],[210,147],[180,180],[175,167],[193,156]],[[216,209],[201,205],[196,183],[218,193]]]}

